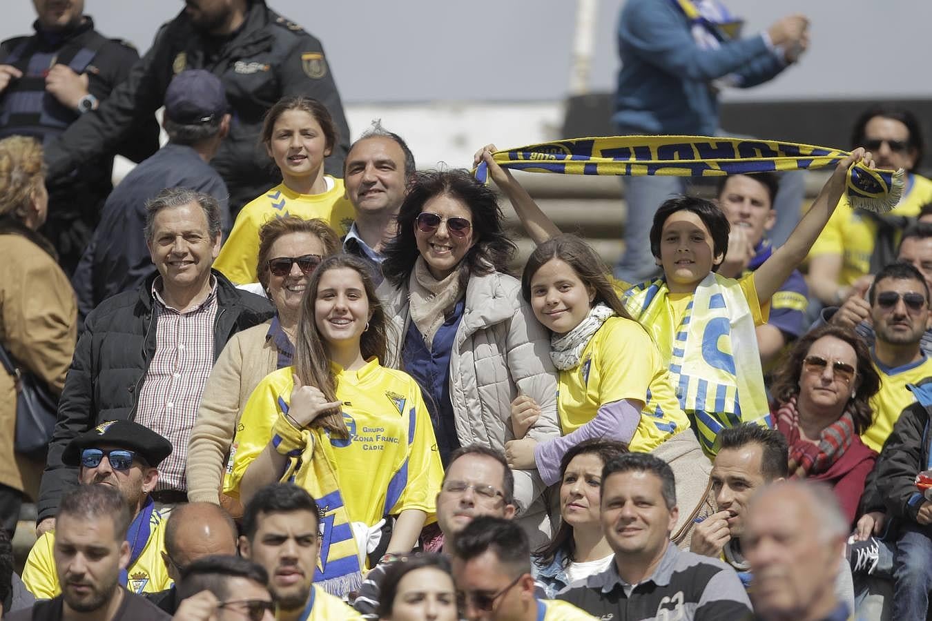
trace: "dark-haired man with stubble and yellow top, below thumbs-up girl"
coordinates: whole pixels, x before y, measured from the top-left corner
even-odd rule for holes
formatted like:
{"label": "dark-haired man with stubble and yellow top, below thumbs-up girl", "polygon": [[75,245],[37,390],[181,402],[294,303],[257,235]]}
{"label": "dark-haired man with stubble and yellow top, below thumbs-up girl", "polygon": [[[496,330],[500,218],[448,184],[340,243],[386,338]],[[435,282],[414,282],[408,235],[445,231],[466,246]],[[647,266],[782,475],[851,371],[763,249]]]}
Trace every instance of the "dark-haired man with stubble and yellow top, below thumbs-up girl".
{"label": "dark-haired man with stubble and yellow top, below thumbs-up girl", "polygon": [[290,483],[260,489],[243,511],[240,554],[267,571],[268,590],[278,604],[279,621],[362,618],[313,584],[320,515],[310,494]]}

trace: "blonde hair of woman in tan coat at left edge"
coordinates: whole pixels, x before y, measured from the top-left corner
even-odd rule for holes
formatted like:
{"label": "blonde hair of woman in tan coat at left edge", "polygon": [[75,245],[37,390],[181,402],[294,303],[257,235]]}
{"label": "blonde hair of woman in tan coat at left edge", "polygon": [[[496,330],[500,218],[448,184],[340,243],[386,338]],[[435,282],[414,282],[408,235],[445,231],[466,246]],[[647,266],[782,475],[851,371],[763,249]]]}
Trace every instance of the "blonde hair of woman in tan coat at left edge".
{"label": "blonde hair of woman in tan coat at left edge", "polygon": [[34,192],[45,178],[41,144],[26,136],[0,141],[0,216],[23,220]]}

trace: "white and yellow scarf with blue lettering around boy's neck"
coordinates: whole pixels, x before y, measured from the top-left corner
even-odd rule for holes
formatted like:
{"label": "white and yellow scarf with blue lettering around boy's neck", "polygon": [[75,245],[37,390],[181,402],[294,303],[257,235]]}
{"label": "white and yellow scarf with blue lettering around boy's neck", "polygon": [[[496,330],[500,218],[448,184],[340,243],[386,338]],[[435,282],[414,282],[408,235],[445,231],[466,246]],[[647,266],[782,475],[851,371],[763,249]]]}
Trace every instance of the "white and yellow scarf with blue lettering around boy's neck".
{"label": "white and yellow scarf with blue lettering around boy's neck", "polygon": [[624,293],[624,305],[645,326],[670,369],[679,404],[710,457],[725,428],[770,424],[761,355],[750,308],[733,278],[709,273],[696,286],[680,324],[674,325],[663,278]]}

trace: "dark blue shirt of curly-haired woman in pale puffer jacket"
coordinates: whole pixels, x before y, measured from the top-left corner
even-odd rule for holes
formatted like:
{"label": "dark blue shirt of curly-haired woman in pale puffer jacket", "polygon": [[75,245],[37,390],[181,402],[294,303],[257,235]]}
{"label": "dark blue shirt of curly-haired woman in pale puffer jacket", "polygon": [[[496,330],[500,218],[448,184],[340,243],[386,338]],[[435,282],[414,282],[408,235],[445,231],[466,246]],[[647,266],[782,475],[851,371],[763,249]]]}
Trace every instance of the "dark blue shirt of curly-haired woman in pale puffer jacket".
{"label": "dark blue shirt of curly-haired woman in pale puffer jacket", "polygon": [[424,343],[418,327],[411,321],[404,335],[402,365],[420,385],[427,410],[431,413],[433,435],[437,438],[440,460],[446,467],[450,453],[459,449],[456,417],[450,400],[450,355],[466,300],[460,299],[453,312],[433,335],[432,348]]}

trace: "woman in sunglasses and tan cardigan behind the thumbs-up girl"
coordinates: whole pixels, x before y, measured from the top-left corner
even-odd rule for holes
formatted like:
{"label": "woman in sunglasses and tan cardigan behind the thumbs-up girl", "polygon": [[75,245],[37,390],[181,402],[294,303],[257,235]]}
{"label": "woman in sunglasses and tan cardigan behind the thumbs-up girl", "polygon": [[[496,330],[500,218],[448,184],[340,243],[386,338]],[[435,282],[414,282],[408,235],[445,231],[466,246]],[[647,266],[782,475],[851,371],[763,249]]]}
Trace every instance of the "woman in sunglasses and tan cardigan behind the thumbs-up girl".
{"label": "woman in sunglasses and tan cardigan behind the thumbs-up girl", "polygon": [[273,218],[259,231],[259,284],[275,304],[275,317],[238,332],[217,358],[204,386],[187,454],[191,502],[220,503],[234,517],[242,507],[219,493],[226,456],[242,409],[268,373],[292,364],[301,298],[324,257],[336,254],[339,237],[322,220]]}

